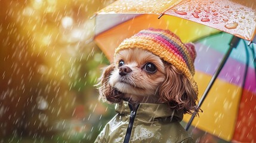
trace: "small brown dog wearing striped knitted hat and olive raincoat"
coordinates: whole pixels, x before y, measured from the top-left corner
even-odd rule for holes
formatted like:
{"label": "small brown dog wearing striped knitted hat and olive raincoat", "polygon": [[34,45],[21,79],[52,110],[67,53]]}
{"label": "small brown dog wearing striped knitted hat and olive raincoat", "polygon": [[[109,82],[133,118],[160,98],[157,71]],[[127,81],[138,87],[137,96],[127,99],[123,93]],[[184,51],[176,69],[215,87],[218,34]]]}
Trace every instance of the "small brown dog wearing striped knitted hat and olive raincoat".
{"label": "small brown dog wearing striped knitted hat and olive raincoat", "polygon": [[[195,46],[183,44],[169,30],[142,30],[122,42],[116,48],[114,63],[106,67],[99,83],[100,99],[118,103],[118,114],[95,142],[193,142],[178,122],[183,114],[198,111],[198,88],[192,76],[195,57]],[[149,107],[152,113],[148,113]],[[152,136],[156,133],[158,136]]]}

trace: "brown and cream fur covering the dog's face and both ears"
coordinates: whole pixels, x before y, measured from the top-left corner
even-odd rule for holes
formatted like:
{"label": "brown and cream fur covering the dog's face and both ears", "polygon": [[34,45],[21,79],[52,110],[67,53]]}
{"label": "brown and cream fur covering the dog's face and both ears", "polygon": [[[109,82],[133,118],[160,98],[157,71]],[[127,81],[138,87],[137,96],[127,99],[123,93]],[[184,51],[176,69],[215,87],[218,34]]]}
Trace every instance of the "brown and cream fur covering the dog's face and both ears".
{"label": "brown and cream fur covering the dog's face and both ears", "polygon": [[[119,75],[120,60],[124,60],[125,66],[132,70],[124,77]],[[143,69],[147,62],[155,64],[155,73],[147,73]],[[121,82],[122,80],[129,84]],[[166,103],[169,108],[183,113],[193,114],[198,111],[198,97],[189,79],[171,64],[143,49],[125,49],[119,52],[114,63],[103,70],[98,85],[100,99],[110,103],[123,100],[133,105],[140,102]]]}

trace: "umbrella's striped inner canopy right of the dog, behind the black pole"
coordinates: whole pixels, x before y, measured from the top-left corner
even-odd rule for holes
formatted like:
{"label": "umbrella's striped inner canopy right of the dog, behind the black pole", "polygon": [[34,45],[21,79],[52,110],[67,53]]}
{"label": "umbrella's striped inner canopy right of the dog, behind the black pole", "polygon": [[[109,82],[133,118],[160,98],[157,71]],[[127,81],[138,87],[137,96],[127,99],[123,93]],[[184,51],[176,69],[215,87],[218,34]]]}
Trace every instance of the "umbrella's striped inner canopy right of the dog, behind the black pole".
{"label": "umbrella's striped inner canopy right of the dog, behind the black pole", "polygon": [[[212,74],[227,51],[232,35],[219,33],[195,42],[195,80],[202,95]],[[216,42],[218,41],[218,42]],[[256,45],[253,43],[251,47]],[[202,104],[203,113],[193,126],[226,141],[256,141],[255,49],[240,41],[215,80]],[[184,121],[190,116],[186,115]],[[213,141],[210,141],[213,142]]]}

